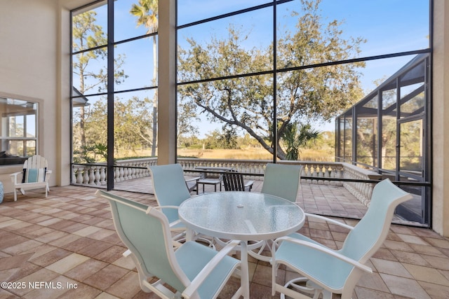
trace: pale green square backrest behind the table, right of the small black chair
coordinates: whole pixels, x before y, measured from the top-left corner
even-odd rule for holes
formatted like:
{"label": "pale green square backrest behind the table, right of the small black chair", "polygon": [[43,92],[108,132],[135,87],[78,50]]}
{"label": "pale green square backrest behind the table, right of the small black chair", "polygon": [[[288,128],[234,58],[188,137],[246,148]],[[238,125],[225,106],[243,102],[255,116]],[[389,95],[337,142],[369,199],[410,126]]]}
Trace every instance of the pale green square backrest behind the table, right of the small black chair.
{"label": "pale green square backrest behind the table, right of the small black chair", "polygon": [[260,192],[295,202],[300,186],[301,169],[301,165],[268,163]]}

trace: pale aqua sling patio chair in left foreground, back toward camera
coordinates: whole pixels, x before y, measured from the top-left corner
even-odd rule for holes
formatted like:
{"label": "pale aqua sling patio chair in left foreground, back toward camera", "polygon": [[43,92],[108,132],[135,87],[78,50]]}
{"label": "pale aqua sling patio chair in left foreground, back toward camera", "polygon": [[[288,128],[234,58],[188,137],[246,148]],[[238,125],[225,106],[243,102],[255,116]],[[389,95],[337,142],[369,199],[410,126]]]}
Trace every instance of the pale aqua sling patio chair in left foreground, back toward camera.
{"label": "pale aqua sling patio chair in left foreground, back toward camera", "polygon": [[[215,251],[196,242],[173,249],[168,218],[160,209],[98,190],[112,209],[116,231],[130,251],[142,291],[161,298],[216,298],[226,282],[240,270],[240,260],[227,254],[239,241]],[[158,279],[155,282],[155,279]],[[170,288],[168,288],[168,286]],[[241,295],[241,288],[233,298]]]}

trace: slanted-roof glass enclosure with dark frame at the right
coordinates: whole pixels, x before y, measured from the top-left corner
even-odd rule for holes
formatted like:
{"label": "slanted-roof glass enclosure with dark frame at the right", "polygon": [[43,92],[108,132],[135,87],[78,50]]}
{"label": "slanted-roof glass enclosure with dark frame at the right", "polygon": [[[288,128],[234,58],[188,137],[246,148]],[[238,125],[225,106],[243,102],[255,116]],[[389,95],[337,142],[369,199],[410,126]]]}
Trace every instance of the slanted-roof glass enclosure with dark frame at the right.
{"label": "slanted-roof glass enclosure with dark frame at the right", "polygon": [[[430,67],[429,54],[416,55],[337,118],[337,123],[342,123],[348,113],[356,111],[358,121],[350,139],[358,150],[349,151],[348,140],[339,139],[337,160],[350,161],[402,183],[401,187],[415,197],[402,204],[398,214],[424,225],[429,225],[431,198]],[[342,127],[338,131],[348,134]]]}

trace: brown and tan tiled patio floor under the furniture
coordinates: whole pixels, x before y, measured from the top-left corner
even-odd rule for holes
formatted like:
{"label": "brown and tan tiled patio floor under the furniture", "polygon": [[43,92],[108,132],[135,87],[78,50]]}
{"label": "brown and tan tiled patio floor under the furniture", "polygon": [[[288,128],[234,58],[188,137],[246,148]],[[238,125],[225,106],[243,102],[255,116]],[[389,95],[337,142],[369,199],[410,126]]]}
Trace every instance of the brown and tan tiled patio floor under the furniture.
{"label": "brown and tan tiled patio floor under the furniture", "polygon": [[[331,193],[347,195],[330,187],[304,185],[300,202],[307,211],[334,207]],[[113,192],[156,203],[152,195]],[[132,262],[121,255],[125,247],[114,230],[109,204],[94,193],[95,188],[65,186],[51,188],[48,197],[41,190],[28,191],[17,202],[6,195],[0,204],[0,281],[25,282],[25,288],[0,288],[0,298],[155,298],[140,290]],[[312,195],[315,203],[309,203]],[[321,204],[321,197],[329,203]],[[353,209],[351,205],[344,209]],[[325,223],[306,222],[300,232],[333,248],[344,239],[344,232]],[[432,230],[391,225],[368,265],[374,273],[358,281],[353,298],[449,298],[449,239]],[[279,271],[281,281],[292,277],[293,272]],[[250,281],[251,298],[272,298],[269,263],[250,258]],[[230,281],[220,298],[229,298],[235,288],[236,280]]]}

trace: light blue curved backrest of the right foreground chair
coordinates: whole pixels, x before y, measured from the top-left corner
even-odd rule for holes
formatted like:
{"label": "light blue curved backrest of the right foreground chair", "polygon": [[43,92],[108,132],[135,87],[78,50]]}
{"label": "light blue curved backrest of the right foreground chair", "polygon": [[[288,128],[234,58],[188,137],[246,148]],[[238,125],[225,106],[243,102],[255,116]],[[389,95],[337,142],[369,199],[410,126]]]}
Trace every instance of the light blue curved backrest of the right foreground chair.
{"label": "light blue curved backrest of the right foreground chair", "polygon": [[398,188],[389,179],[377,183],[368,211],[349,232],[340,252],[366,263],[387,238],[394,209],[411,198],[410,193]]}

